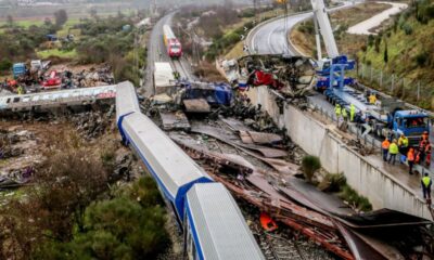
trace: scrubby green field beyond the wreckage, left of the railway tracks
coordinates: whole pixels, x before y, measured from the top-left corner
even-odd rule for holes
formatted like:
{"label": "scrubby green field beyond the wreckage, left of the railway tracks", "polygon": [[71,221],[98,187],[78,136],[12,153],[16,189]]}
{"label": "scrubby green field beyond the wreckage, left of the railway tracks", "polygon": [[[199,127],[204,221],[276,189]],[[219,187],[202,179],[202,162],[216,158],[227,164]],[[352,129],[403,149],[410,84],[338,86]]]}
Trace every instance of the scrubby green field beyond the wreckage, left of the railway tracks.
{"label": "scrubby green field beyond the wreckage, left of the railway tracks", "polygon": [[[116,16],[93,13],[92,18],[68,20],[64,10],[58,10],[54,22],[46,18],[39,26],[27,27],[10,16],[2,26],[5,34],[0,34],[0,72],[10,70],[16,62],[60,57],[81,64],[108,63],[117,82],[130,80],[138,86],[146,55],[139,37],[143,31],[133,27],[133,18],[118,12]],[[60,41],[47,41],[50,34]],[[65,39],[68,35],[74,35],[74,41]]]}

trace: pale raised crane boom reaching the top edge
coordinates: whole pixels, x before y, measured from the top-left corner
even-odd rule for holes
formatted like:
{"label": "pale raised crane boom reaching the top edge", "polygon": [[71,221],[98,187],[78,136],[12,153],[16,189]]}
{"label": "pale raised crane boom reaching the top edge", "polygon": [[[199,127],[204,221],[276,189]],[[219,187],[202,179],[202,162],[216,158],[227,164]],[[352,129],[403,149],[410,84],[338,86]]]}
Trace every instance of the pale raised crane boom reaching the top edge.
{"label": "pale raised crane boom reaching the top edge", "polygon": [[324,46],[327,53],[330,58],[339,56],[336,41],[334,40],[332,26],[330,24],[329,15],[326,11],[326,5],[323,0],[310,0],[314,9],[315,20],[321,30],[322,39],[324,40]]}

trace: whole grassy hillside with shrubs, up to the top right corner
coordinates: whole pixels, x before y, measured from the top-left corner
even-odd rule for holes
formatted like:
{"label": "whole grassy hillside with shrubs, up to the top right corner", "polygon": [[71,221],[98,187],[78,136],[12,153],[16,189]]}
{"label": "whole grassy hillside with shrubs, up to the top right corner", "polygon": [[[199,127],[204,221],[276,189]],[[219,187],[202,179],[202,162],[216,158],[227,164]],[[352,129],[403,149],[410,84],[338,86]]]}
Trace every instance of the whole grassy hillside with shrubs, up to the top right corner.
{"label": "whole grassy hillside with shrubs, up to the top right corner", "polygon": [[[419,2],[384,30],[369,37],[359,61],[383,74],[405,78],[405,92],[394,90],[405,100],[425,108],[434,108],[434,4]],[[387,51],[386,51],[387,49]],[[417,88],[420,86],[420,98]]]}

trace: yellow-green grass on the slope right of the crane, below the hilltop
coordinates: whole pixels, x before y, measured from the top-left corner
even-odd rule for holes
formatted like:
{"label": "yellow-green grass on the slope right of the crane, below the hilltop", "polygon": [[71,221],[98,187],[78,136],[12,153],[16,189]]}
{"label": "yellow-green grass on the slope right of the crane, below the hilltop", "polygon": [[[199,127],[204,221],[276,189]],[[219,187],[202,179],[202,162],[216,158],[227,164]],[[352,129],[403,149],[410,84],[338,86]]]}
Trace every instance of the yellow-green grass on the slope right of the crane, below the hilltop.
{"label": "yellow-green grass on the slope right of the crane, below the hilltop", "polygon": [[[406,35],[403,29],[397,28],[396,32],[390,32],[390,37],[382,38],[379,52],[374,47],[368,47],[366,52],[359,52],[358,56],[361,63],[371,64],[374,69],[382,69],[385,74],[395,74],[399,78],[406,78],[405,95],[398,93],[395,89],[393,95],[398,95],[407,102],[413,103],[426,109],[434,109],[434,74],[430,65],[434,61],[434,54],[430,51],[434,48],[434,20],[423,25],[410,17],[406,24],[412,27],[413,32]],[[384,62],[385,42],[387,42],[388,62]],[[427,64],[419,65],[417,56],[420,53],[426,53]],[[414,86],[421,83],[422,94],[418,101]],[[375,86],[373,86],[375,87]],[[381,89],[379,86],[376,88]],[[383,89],[383,91],[387,91]],[[404,95],[404,96],[403,96]]]}

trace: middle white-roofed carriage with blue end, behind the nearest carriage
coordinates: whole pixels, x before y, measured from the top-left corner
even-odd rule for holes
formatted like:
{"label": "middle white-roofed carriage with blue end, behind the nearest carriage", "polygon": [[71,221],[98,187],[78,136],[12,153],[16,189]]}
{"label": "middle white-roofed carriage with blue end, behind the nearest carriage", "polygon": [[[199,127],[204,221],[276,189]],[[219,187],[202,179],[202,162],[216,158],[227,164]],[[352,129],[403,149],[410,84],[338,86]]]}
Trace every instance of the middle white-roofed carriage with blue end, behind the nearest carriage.
{"label": "middle white-roofed carriage with blue end, behind the nearest carriage", "polygon": [[213,179],[143,114],[126,116],[120,127],[182,221],[186,193]]}

